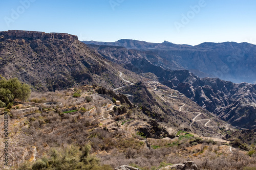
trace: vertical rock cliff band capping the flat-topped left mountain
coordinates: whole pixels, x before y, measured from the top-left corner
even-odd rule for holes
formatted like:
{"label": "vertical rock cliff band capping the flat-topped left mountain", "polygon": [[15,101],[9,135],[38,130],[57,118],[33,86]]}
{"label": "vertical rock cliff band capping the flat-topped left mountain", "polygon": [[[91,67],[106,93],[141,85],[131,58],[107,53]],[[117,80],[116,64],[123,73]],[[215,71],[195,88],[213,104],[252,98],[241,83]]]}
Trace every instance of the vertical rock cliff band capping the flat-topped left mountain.
{"label": "vertical rock cliff band capping the flat-topped left mountain", "polygon": [[9,30],[0,32],[0,36],[5,35],[13,38],[57,38],[57,39],[71,39],[76,40],[78,37],[76,35],[71,35],[67,33],[45,33],[38,31],[24,31],[24,30]]}

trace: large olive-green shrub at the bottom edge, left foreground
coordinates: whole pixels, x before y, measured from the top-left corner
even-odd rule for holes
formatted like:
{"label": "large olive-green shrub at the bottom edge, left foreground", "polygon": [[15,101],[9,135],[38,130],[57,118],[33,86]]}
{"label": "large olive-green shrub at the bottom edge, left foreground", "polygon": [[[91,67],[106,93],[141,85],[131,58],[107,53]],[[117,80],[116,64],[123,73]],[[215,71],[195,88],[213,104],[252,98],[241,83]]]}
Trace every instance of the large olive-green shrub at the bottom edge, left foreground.
{"label": "large olive-green shrub at the bottom edge, left foreground", "polygon": [[109,165],[100,165],[99,159],[91,156],[91,146],[77,147],[69,145],[68,147],[51,149],[49,157],[44,157],[34,163],[24,163],[19,169],[91,169],[91,170],[110,170]]}

